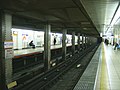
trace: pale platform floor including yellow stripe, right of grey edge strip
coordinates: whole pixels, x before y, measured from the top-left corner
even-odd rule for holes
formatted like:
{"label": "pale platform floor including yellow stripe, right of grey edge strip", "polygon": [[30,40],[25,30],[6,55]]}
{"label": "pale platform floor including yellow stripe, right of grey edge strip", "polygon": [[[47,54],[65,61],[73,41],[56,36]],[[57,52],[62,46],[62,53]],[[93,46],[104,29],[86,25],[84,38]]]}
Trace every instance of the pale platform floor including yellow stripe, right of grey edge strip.
{"label": "pale platform floor including yellow stripe, right of grey edge strip", "polygon": [[120,50],[104,43],[95,90],[120,90]]}

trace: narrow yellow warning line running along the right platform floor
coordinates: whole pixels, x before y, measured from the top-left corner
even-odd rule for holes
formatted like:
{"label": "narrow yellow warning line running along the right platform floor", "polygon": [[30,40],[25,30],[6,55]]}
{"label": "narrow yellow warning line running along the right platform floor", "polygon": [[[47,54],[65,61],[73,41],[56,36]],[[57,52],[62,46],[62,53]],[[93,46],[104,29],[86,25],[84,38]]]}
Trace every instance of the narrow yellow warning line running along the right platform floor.
{"label": "narrow yellow warning line running along the right platform floor", "polygon": [[102,45],[102,66],[101,66],[101,77],[100,77],[100,90],[109,89],[108,71],[105,57],[105,47]]}

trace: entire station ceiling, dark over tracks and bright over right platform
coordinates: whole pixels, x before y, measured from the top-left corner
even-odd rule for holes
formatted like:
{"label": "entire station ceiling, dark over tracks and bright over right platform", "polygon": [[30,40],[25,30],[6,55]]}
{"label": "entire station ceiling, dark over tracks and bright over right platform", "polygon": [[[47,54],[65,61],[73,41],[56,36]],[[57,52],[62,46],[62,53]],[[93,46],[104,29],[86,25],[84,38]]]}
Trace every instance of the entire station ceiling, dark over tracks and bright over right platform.
{"label": "entire station ceiling, dark over tracks and bright over right platform", "polygon": [[118,0],[4,0],[1,9],[13,15],[13,25],[99,36],[110,24]]}

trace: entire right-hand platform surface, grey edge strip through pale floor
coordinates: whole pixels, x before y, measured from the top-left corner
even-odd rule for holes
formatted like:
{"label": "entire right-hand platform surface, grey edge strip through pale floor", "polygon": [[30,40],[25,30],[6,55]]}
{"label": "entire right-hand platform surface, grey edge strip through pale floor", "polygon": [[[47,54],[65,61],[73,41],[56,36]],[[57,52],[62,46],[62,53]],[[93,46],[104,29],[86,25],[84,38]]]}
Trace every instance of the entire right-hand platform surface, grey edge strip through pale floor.
{"label": "entire right-hand platform surface, grey edge strip through pale floor", "polygon": [[74,90],[120,90],[120,50],[102,43]]}

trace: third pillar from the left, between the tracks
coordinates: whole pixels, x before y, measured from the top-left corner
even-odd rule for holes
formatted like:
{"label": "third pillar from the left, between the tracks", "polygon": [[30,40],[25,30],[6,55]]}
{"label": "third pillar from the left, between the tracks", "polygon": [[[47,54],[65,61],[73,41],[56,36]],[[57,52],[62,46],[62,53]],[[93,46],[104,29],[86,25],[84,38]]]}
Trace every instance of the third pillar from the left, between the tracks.
{"label": "third pillar from the left, between the tracks", "polygon": [[62,60],[66,60],[66,34],[67,30],[63,30],[63,35],[62,35]]}

